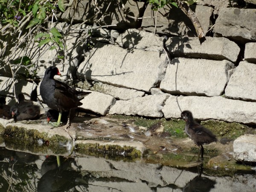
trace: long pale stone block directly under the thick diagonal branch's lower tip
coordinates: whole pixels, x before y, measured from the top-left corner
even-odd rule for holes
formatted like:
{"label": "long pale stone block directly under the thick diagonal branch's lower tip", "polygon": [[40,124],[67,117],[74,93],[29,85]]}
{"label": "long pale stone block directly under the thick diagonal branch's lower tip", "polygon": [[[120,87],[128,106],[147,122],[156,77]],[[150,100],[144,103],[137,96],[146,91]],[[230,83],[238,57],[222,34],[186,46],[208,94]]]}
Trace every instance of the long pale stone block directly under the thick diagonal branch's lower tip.
{"label": "long pale stone block directly under the thick diagonal branch's lower tip", "polygon": [[166,41],[166,47],[175,57],[228,60],[233,63],[240,52],[239,46],[227,38],[206,37],[206,41],[200,44],[197,37],[172,37]]}

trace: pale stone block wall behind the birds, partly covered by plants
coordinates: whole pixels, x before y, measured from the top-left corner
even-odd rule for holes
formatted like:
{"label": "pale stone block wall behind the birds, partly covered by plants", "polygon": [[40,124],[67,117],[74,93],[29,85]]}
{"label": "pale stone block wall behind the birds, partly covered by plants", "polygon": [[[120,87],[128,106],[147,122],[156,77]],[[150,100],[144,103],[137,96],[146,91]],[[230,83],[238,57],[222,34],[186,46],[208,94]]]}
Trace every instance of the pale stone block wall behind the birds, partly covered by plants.
{"label": "pale stone block wall behind the birds, partly covered by plants", "polygon": [[[90,3],[81,0],[74,15],[77,24],[65,38],[64,59],[47,50],[47,45],[38,50],[36,42],[27,42],[26,52],[20,48],[17,54],[1,58],[0,95],[13,100],[13,83],[8,80],[12,73],[6,66],[10,59],[27,55],[35,63],[38,79],[47,67],[56,65],[63,75],[61,81],[70,85],[80,81],[78,87],[91,90],[93,94],[81,101],[82,108],[99,115],[179,118],[181,111],[190,110],[201,120],[256,124],[256,21],[251,19],[256,9],[218,2],[218,6],[214,1],[191,6],[207,35],[200,44],[192,22],[179,9],[165,6],[159,10],[154,35],[155,21],[149,18],[151,9],[144,2],[117,1],[102,17],[105,24],[101,23],[113,26],[95,28],[88,19],[93,14]],[[65,6],[66,11],[58,15],[60,23],[55,23],[58,30],[67,29],[75,10],[68,1]],[[163,50],[163,35],[173,57],[170,63]],[[23,73],[22,68],[14,70]],[[30,83],[15,84],[22,86],[16,94],[29,95],[35,87],[35,82]],[[38,99],[42,102],[39,90]]]}

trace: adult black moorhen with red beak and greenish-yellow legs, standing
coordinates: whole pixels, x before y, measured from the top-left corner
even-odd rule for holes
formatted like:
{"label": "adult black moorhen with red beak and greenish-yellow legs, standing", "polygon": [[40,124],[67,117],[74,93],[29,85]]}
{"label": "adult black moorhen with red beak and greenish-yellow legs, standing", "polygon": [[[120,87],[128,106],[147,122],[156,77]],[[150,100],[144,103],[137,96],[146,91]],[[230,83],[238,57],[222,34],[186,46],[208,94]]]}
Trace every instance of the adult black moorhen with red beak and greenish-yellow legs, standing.
{"label": "adult black moorhen with red beak and greenish-yellow legs, standing", "polygon": [[[58,121],[55,125],[55,127],[58,127],[61,124],[61,114],[64,111],[70,111],[72,108],[77,108],[82,105],[80,100],[90,94],[90,92],[77,91],[67,84],[55,80],[55,75],[61,75],[58,68],[54,66],[48,67],[40,85],[40,94],[49,108],[59,112]],[[67,122],[67,127],[68,126],[69,117]]]}

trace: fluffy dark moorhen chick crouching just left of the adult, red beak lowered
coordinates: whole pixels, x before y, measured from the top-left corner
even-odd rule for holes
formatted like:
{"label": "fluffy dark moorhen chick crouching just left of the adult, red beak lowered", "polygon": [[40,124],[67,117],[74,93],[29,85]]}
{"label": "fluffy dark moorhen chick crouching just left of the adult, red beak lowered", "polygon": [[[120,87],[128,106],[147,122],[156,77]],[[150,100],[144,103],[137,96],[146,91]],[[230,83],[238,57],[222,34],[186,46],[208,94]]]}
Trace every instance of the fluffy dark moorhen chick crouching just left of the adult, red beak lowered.
{"label": "fluffy dark moorhen chick crouching just left of the adult, red beak lowered", "polygon": [[40,115],[40,107],[32,101],[25,101],[22,93],[18,95],[18,102],[10,109],[15,122],[21,120],[36,119]]}

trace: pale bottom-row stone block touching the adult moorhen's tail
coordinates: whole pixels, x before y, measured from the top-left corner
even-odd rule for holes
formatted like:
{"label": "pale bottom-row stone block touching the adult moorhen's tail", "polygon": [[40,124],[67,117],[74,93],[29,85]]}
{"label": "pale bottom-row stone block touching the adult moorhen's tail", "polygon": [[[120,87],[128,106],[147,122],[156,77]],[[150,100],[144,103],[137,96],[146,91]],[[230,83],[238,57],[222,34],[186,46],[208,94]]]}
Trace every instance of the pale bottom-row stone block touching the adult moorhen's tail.
{"label": "pale bottom-row stone block touching the adult moorhen's tail", "polygon": [[[87,91],[87,90],[83,90]],[[115,103],[116,99],[110,95],[92,91],[89,95],[85,96],[80,102],[83,105],[79,106],[100,115],[106,115],[111,105]]]}

